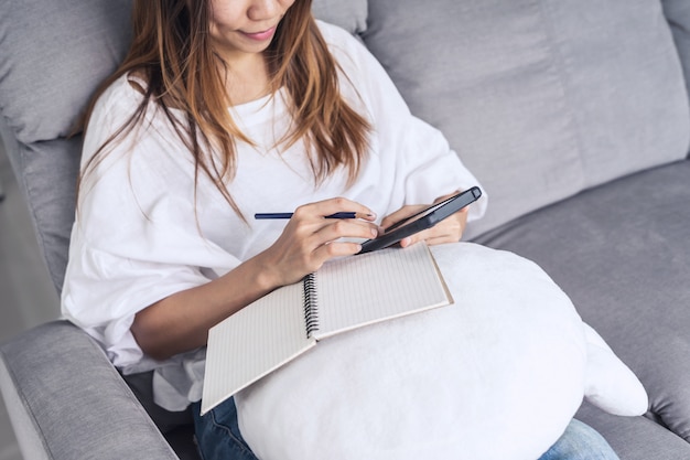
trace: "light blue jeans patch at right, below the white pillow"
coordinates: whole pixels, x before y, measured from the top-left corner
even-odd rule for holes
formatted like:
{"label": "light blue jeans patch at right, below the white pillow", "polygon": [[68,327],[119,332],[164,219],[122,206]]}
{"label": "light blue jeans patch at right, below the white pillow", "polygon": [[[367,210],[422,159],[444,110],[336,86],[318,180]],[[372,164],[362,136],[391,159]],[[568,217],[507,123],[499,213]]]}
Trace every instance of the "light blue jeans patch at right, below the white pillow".
{"label": "light blue jeans patch at right, below the white pillow", "polygon": [[618,460],[618,456],[594,428],[573,419],[539,460]]}

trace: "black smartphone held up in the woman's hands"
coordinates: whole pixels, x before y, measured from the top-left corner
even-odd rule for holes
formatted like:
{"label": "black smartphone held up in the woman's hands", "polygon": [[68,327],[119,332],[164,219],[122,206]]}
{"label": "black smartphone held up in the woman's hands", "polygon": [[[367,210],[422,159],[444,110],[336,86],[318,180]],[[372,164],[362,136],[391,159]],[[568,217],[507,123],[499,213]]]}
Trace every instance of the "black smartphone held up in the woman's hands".
{"label": "black smartphone held up in the woman's hands", "polygon": [[385,247],[395,245],[402,238],[431,228],[470,203],[477,201],[479,196],[482,196],[482,190],[479,190],[478,186],[473,186],[436,204],[432,204],[417,214],[412,214],[402,221],[396,222],[386,228],[385,234],[373,239],[367,239],[362,244],[362,250],[357,254],[384,249]]}

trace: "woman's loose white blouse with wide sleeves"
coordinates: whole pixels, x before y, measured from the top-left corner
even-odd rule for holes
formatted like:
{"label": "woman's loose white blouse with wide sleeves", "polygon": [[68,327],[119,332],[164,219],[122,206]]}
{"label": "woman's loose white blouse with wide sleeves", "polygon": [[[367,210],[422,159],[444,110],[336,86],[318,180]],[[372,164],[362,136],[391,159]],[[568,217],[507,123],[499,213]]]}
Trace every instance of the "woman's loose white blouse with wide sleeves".
{"label": "woman's loose white blouse with wide sleeves", "polygon": [[[154,398],[182,410],[202,393],[205,350],[160,362],[145,356],[130,327],[134,314],[172,293],[213,280],[269,247],[285,221],[255,213],[346,196],[385,216],[477,185],[443,135],[413,117],[380,64],[355,38],[320,22],[342,67],[341,89],[371,122],[368,158],[354,185],[336,173],[315,184],[304,146],[276,148],[289,127],[285,94],[229,108],[254,145],[237,142],[237,173],[227,184],[244,222],[215,185],[198,175],[165,116],[150,107],[82,184],[62,297],[64,317],[86,330],[125,374],[155,370]],[[82,165],[128,119],[141,95],[127,77],[95,107]],[[180,114],[175,114],[179,116]],[[486,194],[471,206],[478,218]]]}

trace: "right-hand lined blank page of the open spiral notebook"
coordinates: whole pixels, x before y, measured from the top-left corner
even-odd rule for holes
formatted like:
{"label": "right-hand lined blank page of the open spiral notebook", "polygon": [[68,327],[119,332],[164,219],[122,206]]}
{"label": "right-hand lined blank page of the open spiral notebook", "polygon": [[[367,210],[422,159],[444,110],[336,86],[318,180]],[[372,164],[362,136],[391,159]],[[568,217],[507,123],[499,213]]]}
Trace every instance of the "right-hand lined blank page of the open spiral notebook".
{"label": "right-hand lined blank page of the open spiral notebook", "polygon": [[424,244],[330,261],[316,291],[317,339],[451,301]]}

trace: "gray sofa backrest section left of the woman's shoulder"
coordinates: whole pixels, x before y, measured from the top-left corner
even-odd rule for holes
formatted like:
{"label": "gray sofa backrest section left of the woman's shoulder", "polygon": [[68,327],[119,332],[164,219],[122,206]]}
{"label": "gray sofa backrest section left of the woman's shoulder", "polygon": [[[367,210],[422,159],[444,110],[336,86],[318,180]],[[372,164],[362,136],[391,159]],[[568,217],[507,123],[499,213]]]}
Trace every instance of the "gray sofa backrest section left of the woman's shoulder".
{"label": "gray sofa backrest section left of the woman's shoulder", "polygon": [[65,138],[122,58],[130,10],[131,0],[0,2],[0,132],[58,290],[80,151],[80,138]]}

